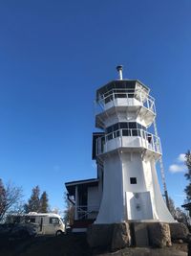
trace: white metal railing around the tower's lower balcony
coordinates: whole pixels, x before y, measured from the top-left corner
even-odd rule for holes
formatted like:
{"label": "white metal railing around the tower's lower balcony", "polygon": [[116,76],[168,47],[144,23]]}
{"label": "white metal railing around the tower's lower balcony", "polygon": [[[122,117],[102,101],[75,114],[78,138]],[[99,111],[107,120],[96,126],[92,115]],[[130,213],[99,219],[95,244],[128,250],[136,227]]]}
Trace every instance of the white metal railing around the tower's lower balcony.
{"label": "white metal railing around the tower's lower balcony", "polygon": [[[138,144],[131,142],[131,144],[128,145],[128,143],[124,141],[125,137],[138,137],[140,140]],[[112,150],[117,148],[145,148],[161,153],[161,145],[158,136],[141,128],[120,128],[96,139],[96,155],[111,151],[111,147],[109,147],[108,144],[109,141],[112,140],[116,142]]]}

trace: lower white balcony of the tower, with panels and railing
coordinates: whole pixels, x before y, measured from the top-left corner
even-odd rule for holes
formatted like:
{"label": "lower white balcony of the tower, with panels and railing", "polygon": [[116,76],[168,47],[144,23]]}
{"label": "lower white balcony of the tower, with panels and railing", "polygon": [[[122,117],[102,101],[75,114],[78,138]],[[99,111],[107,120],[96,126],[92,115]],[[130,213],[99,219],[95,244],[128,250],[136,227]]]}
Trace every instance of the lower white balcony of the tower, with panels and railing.
{"label": "lower white balcony of the tower, with panels and railing", "polygon": [[161,146],[159,137],[143,129],[118,129],[96,139],[96,156],[125,149],[142,151],[148,150],[161,155]]}

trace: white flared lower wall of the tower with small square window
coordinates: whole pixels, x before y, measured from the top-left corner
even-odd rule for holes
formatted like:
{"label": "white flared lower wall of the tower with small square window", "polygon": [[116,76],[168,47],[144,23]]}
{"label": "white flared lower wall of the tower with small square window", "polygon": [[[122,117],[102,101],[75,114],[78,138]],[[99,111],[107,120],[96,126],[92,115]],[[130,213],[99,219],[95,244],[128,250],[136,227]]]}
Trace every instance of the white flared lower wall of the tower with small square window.
{"label": "white flared lower wall of the tower with small square window", "polygon": [[[96,223],[174,222],[160,194],[155,159],[118,151],[104,160],[103,198]],[[137,184],[130,178],[136,177]]]}

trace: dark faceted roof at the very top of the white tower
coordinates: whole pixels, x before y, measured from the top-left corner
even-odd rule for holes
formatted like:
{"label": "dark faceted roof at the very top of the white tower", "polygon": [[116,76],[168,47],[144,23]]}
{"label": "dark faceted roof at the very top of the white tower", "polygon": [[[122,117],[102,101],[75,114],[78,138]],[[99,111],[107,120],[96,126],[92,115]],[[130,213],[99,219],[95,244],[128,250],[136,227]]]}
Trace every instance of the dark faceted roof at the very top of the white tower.
{"label": "dark faceted roof at the very top of the white tower", "polygon": [[138,80],[117,80],[117,81],[109,81],[102,87],[96,90],[96,99],[98,99],[99,95],[102,95],[112,89],[136,89],[137,85],[141,86],[147,93],[149,93],[150,89]]}

